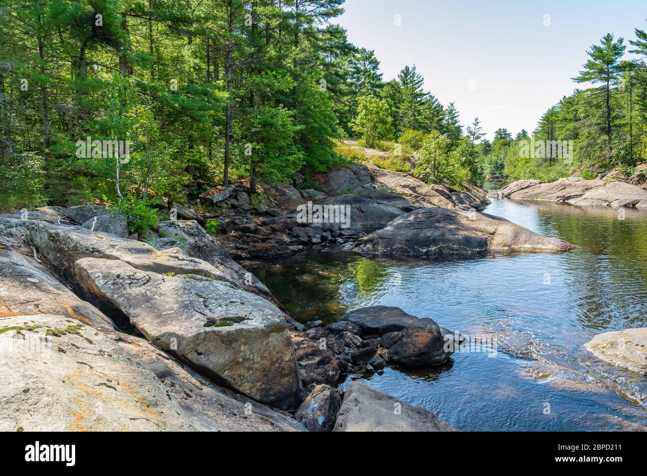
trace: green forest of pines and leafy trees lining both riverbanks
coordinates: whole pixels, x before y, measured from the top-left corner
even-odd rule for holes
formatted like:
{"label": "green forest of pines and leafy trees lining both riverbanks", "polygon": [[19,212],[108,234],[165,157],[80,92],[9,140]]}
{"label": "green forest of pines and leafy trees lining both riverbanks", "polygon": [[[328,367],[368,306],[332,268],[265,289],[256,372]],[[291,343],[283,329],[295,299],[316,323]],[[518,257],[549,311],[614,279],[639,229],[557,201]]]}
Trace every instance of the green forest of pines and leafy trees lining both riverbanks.
{"label": "green forest of pines and leafy trees lining both riverbanks", "polygon": [[[242,181],[253,196],[259,182],[362,159],[348,138],[388,151],[380,166],[457,188],[630,174],[646,160],[647,65],[623,60],[647,56],[644,30],[593,43],[573,78],[585,89],[534,130],[499,128],[490,142],[415,65],[382,78],[375,52],[331,22],[343,3],[3,1],[0,209],[91,198],[146,209],[156,196],[182,202],[192,183]],[[542,153],[523,152],[531,140]]]}

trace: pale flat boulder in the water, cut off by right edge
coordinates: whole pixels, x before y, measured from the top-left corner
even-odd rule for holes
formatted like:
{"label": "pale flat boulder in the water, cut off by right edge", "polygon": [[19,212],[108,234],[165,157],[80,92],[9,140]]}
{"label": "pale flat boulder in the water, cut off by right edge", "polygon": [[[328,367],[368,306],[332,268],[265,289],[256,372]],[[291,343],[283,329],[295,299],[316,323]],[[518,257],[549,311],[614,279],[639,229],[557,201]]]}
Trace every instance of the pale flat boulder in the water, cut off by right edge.
{"label": "pale flat boulder in the water, cut off by right edge", "polygon": [[584,347],[604,361],[647,376],[647,328],[604,332]]}

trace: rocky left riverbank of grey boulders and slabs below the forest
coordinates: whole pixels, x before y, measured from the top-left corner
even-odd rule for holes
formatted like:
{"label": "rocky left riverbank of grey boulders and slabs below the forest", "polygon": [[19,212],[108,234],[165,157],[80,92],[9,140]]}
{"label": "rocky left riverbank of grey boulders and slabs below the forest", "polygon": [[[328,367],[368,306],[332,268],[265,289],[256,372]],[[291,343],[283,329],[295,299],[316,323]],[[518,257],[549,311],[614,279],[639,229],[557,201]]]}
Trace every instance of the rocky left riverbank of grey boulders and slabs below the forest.
{"label": "rocky left riverbank of grey boulders and slabs below the forest", "polygon": [[[481,213],[477,188],[432,187],[371,165],[316,179],[322,191],[297,190],[298,176],[267,187],[273,209],[252,207],[236,187],[203,193],[226,205],[218,236],[201,225],[215,215],[177,203],[162,203],[162,214],[172,207],[184,220],[160,221],[147,236],[98,205],[0,215],[0,343],[9,349],[0,360],[11,368],[0,428],[456,431],[362,383],[336,385],[390,365],[441,365],[465,337],[389,306],[300,324],[236,260],[329,246],[434,256],[572,245]],[[298,220],[296,207],[313,199],[347,205],[350,226]]]}

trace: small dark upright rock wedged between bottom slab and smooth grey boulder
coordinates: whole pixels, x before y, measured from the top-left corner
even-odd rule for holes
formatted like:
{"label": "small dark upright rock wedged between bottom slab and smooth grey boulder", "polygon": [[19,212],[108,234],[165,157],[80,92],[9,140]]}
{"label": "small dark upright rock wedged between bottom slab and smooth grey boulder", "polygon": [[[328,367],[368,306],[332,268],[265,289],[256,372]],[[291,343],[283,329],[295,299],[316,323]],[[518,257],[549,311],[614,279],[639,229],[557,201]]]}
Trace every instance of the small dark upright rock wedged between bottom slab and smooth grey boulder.
{"label": "small dark upright rock wedged between bottom slab and smooth grey boulder", "polygon": [[329,385],[317,385],[294,414],[309,431],[332,431],[342,406],[342,392]]}

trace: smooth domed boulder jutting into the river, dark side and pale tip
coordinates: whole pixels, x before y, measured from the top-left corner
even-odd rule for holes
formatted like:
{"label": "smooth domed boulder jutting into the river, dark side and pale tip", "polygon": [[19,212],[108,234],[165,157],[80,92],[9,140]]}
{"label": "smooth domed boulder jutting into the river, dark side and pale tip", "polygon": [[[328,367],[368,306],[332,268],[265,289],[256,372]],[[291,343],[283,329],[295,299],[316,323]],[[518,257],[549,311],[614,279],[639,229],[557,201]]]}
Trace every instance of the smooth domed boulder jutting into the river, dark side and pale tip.
{"label": "smooth domed boulder jutting into the river, dark side and pale tip", "polygon": [[442,208],[413,210],[360,238],[366,255],[485,255],[514,251],[567,251],[573,245],[547,238],[505,218]]}

